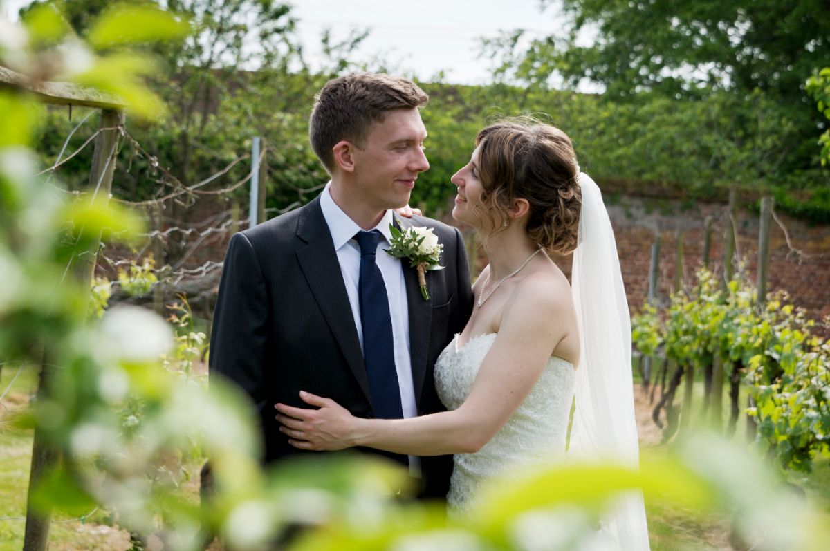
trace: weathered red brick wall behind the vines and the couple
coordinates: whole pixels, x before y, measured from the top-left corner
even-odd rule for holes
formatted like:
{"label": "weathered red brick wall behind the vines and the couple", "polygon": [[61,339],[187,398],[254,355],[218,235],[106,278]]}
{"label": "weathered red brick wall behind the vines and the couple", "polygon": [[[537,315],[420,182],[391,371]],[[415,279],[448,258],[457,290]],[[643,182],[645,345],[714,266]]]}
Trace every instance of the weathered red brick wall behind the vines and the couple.
{"label": "weathered red brick wall behind the vines and the couple", "polygon": [[[701,262],[704,240],[704,221],[712,218],[712,238],[709,267],[723,273],[722,258],[726,222],[726,205],[696,203],[669,199],[622,197],[608,200],[608,216],[617,237],[620,265],[623,269],[628,304],[638,308],[648,293],[648,270],[651,263],[652,242],[662,236],[660,271],[657,280],[657,298],[661,304],[668,301],[674,286],[675,255],[678,232],[683,236],[683,280],[694,279],[696,266]],[[830,226],[810,227],[791,217],[777,214],[789,232],[793,247],[803,251],[800,257],[791,253],[784,230],[775,221],[770,229],[769,290],[786,290],[793,303],[808,310],[810,317],[821,319],[830,315]],[[746,270],[754,280],[757,273],[758,214],[740,211],[737,220],[737,251],[747,261]],[[470,232],[465,232],[466,236]],[[570,275],[570,257],[555,259],[566,275]],[[476,255],[474,273],[486,264],[483,251]]]}

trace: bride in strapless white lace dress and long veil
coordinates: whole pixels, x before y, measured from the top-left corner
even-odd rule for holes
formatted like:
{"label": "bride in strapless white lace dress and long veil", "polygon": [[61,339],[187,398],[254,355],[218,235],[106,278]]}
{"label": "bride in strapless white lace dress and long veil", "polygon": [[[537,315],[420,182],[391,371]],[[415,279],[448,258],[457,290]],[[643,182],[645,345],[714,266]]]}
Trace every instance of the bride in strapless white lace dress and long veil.
{"label": "bride in strapless white lace dress and long veil", "polygon": [[[453,177],[452,216],[481,236],[490,261],[473,286],[466,327],[435,365],[447,412],[353,417],[310,393],[318,409],[277,404],[302,450],[369,446],[417,456],[452,453],[447,504],[470,510],[483,482],[569,455],[637,465],[630,325],[608,213],[559,129],[510,120],[482,129]],[[548,253],[574,252],[573,285]],[[578,368],[579,367],[579,368]],[[613,549],[648,549],[640,495],[603,522]]]}

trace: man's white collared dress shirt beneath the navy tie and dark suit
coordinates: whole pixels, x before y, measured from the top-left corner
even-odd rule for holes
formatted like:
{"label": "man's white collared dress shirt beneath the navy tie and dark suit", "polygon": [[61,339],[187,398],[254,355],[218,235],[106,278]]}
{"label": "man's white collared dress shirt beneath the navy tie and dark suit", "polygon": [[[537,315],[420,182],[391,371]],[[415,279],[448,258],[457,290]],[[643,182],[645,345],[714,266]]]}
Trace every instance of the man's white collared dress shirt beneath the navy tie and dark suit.
{"label": "man's white collared dress shirt beneath the navy tie and dark suit", "polygon": [[[325,223],[329,226],[334,251],[340,264],[340,272],[349,295],[354,325],[358,329],[360,349],[363,350],[363,324],[360,319],[359,280],[360,280],[360,246],[354,239],[357,232],[363,231],[349,215],[334,202],[330,193],[331,182],[326,184],[320,195],[320,207],[323,209]],[[389,299],[389,315],[392,317],[392,339],[395,356],[395,370],[398,372],[398,388],[401,390],[401,407],[403,417],[417,417],[415,405],[415,388],[413,385],[412,362],[409,356],[409,306],[407,304],[406,284],[403,280],[403,266],[398,258],[384,252],[392,240],[389,224],[393,222],[392,211],[383,215],[377,226],[383,239],[378,240],[378,254],[375,263],[383,275],[386,295]],[[369,230],[371,231],[371,230]],[[409,456],[410,474],[417,475],[417,457]]]}

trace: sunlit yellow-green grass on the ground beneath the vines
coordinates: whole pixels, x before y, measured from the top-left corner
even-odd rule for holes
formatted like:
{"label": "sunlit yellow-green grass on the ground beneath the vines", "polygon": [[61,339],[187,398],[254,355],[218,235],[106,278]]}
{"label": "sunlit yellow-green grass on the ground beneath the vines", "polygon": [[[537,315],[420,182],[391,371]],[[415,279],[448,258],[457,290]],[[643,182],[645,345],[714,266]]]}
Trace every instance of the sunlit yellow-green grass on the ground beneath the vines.
{"label": "sunlit yellow-green grass on the ground beneath the vines", "polygon": [[[7,366],[0,379],[0,393],[6,390],[17,369]],[[14,427],[9,419],[27,406],[28,396],[37,386],[37,378],[32,368],[23,368],[7,397],[0,407],[0,551],[17,551],[22,548],[25,527],[26,495],[28,473],[32,454],[32,431]],[[637,386],[639,388],[639,386]],[[681,389],[678,389],[676,402],[681,402]],[[659,391],[658,391],[659,392]],[[642,393],[637,396],[638,424],[641,427],[643,446],[651,451],[662,453],[668,446],[660,444],[660,432],[651,422],[651,405]],[[696,383],[693,399],[696,417],[703,396],[702,383]],[[745,397],[742,396],[742,404]],[[728,417],[728,396],[724,397],[724,412]],[[742,416],[743,417],[743,416]],[[739,425],[738,434],[743,434]],[[830,512],[830,458],[816,461],[813,473],[804,475],[791,474],[789,480],[803,487],[808,498],[823,510]],[[188,483],[188,490],[196,499],[195,481]],[[712,514],[690,510],[677,505],[652,502],[646,503],[649,534],[652,551],[686,551],[692,549],[724,550],[732,549],[729,542],[729,519]],[[64,551],[69,549],[93,549],[100,551],[124,551],[129,549],[129,534],[114,525],[113,519],[104,510],[97,510],[88,519],[82,521],[66,514],[56,514],[50,531],[49,549]]]}

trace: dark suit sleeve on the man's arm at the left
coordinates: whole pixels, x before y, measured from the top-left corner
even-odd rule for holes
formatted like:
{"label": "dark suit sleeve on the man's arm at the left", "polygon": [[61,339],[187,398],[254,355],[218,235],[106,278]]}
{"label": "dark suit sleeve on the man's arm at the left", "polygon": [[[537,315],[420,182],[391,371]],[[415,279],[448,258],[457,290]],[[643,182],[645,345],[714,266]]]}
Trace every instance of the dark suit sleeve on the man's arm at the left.
{"label": "dark suit sleeve on the man's arm at the left", "polygon": [[267,408],[263,363],[270,323],[268,304],[251,241],[237,233],[227,246],[213,311],[209,379],[221,377],[236,383],[251,397],[260,415]]}

